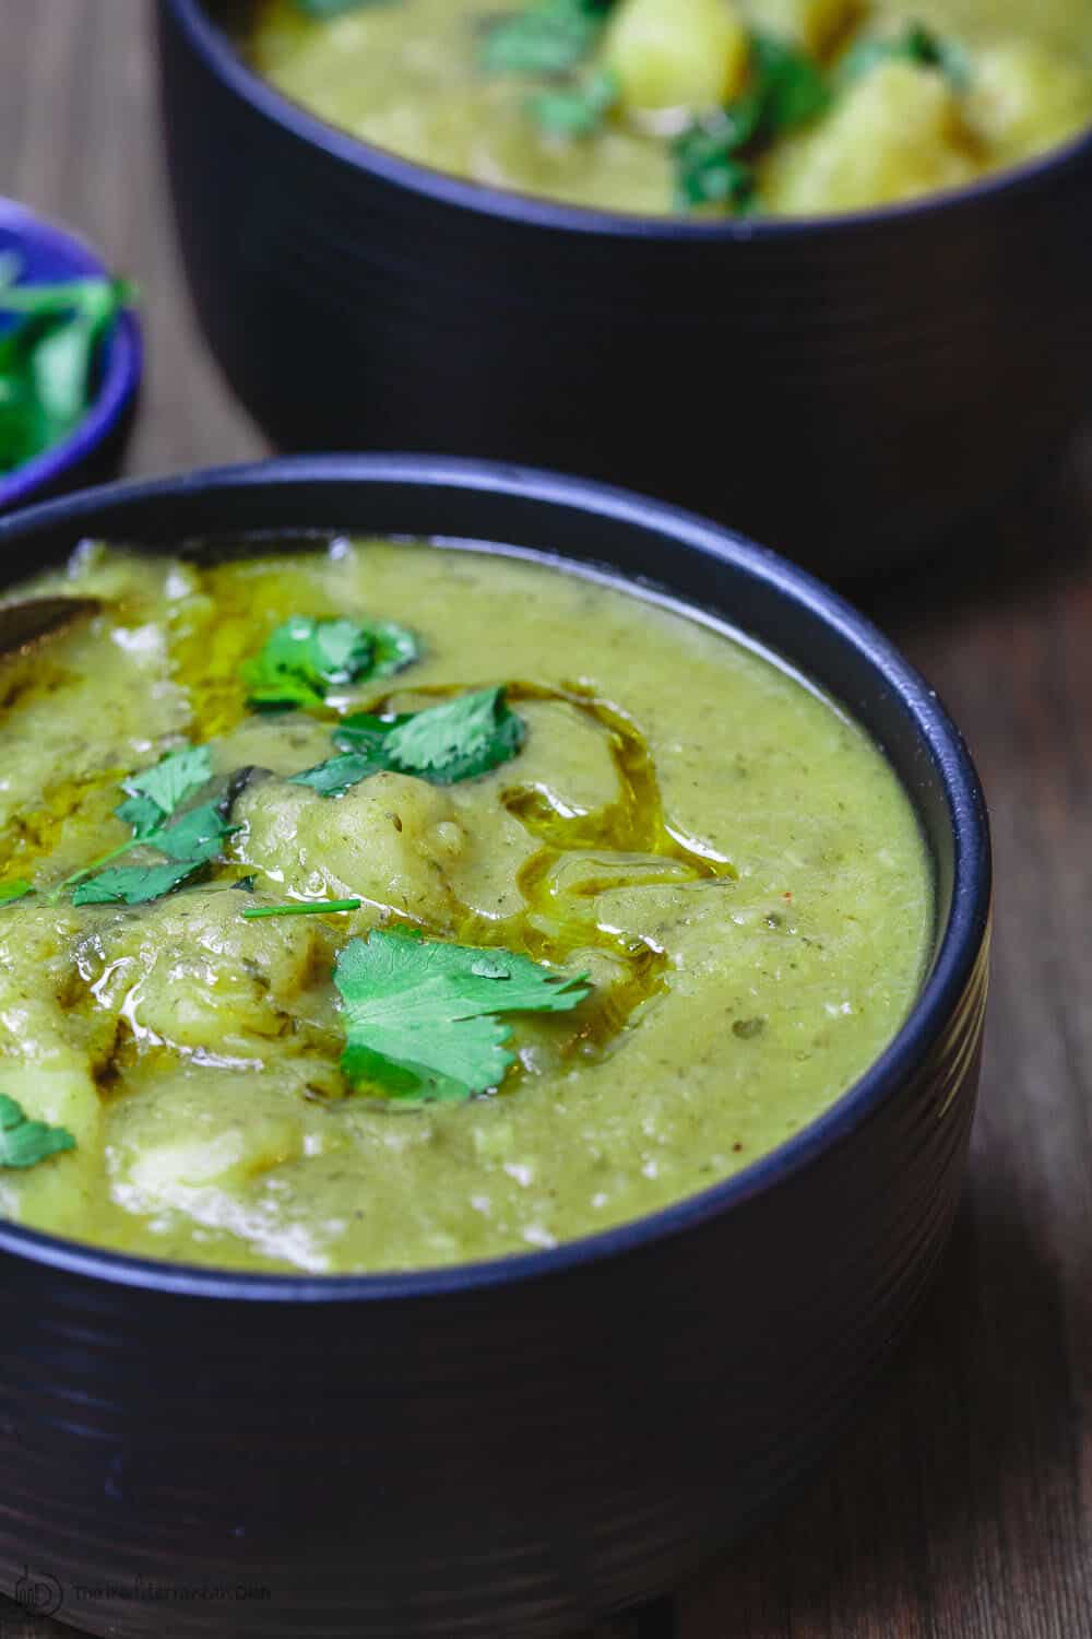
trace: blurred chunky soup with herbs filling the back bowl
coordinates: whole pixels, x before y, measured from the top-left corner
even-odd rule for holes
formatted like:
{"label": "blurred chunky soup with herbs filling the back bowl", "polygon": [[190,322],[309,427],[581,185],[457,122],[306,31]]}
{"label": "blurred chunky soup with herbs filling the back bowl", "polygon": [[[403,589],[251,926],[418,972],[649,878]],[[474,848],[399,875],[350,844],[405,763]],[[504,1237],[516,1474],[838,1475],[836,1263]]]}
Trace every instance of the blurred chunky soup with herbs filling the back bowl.
{"label": "blurred chunky soup with herbs filling the back bowl", "polygon": [[246,49],[368,143],[639,215],[896,203],[1092,123],[1092,0],[255,0]]}

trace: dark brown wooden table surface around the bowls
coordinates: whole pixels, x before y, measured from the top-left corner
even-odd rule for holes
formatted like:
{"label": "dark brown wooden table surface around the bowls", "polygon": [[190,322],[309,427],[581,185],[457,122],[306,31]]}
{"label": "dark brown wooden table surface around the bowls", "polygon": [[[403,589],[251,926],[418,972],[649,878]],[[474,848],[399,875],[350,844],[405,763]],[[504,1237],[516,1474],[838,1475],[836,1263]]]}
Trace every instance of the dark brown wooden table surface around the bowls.
{"label": "dark brown wooden table surface around the bowls", "polygon": [[[139,280],[134,474],[262,454],[193,325],[157,139],[151,0],[0,0],[0,192]],[[868,602],[954,711],[997,847],[971,1183],[917,1337],[761,1534],[596,1639],[1092,1639],[1092,441],[959,585]],[[69,1629],[0,1600],[0,1639]],[[169,1628],[164,1628],[169,1636]]]}

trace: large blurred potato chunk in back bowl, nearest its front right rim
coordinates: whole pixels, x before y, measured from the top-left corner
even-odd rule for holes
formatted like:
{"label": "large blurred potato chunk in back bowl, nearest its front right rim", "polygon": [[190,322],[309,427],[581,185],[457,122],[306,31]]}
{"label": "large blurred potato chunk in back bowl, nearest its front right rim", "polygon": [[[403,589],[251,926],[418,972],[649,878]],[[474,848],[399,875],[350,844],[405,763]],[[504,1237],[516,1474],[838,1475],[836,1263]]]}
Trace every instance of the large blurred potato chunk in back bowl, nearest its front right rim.
{"label": "large blurred potato chunk in back bowl, nearest its front right rim", "polygon": [[884,62],[835,111],[763,167],[763,198],[786,216],[866,210],[959,187],[981,166],[941,74]]}

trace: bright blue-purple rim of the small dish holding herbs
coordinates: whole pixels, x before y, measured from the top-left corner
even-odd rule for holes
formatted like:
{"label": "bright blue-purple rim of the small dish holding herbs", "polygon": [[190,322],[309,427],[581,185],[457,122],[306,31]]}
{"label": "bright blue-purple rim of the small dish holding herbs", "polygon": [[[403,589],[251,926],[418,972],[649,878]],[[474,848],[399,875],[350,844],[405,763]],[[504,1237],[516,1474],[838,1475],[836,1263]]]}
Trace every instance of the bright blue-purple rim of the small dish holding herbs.
{"label": "bright blue-purple rim of the small dish holding herbs", "polygon": [[[18,200],[0,198],[0,229],[25,241],[39,244],[77,277],[110,279],[110,267],[80,234],[64,223],[43,216]],[[88,456],[111,436],[136,397],[144,367],[141,326],[131,308],[124,308],[115,321],[105,349],[105,370],[98,392],[80,423],[44,449],[41,456],[25,461],[11,472],[0,474],[0,508],[10,510],[31,500],[83,464]]]}

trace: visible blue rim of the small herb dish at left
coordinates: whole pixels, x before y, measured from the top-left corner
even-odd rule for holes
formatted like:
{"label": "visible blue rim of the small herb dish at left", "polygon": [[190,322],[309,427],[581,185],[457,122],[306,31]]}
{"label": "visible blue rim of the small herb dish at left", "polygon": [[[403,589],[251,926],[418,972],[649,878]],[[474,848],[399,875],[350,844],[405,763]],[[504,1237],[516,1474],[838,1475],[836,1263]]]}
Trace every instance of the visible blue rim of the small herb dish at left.
{"label": "visible blue rim of the small herb dish at left", "polygon": [[[67,228],[0,200],[0,254],[20,257],[20,279],[44,284],[62,279],[105,279],[108,269]],[[0,474],[0,511],[44,500],[62,490],[111,477],[124,454],[141,384],[141,331],[133,313],[123,313],[103,347],[93,402],[61,444],[46,449],[13,472]]]}

